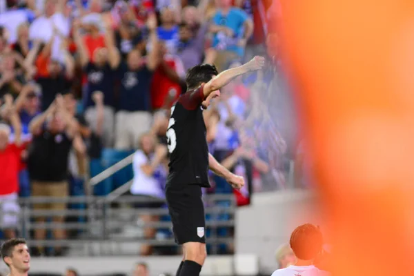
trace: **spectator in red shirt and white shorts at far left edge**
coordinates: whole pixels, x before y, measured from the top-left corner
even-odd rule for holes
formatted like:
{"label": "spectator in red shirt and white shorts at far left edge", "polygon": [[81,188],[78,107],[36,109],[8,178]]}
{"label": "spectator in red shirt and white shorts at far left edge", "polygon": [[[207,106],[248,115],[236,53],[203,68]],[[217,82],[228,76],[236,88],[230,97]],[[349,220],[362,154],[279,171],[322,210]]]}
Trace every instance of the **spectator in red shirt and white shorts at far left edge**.
{"label": "spectator in red shirt and white shorts at far left edge", "polygon": [[1,117],[10,122],[14,130],[14,143],[9,144],[10,126],[0,124],[0,212],[4,235],[15,237],[19,223],[19,166],[21,156],[21,124],[19,115],[12,105],[12,98],[6,100],[1,110]]}

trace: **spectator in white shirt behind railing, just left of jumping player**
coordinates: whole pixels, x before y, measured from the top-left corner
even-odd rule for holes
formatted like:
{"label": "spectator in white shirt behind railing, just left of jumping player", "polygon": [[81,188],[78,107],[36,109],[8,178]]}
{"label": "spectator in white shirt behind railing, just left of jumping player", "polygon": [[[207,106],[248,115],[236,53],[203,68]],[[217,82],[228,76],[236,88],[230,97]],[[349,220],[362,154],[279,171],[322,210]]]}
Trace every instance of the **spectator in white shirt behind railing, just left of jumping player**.
{"label": "spectator in white shirt behind railing, just left of jumping player", "polygon": [[[163,202],[154,199],[164,199],[164,185],[166,182],[167,170],[161,164],[167,155],[167,147],[157,143],[157,137],[148,133],[139,139],[139,150],[135,152],[132,160],[134,179],[130,193],[136,195],[141,201],[138,208],[160,208]],[[146,223],[157,221],[156,215],[141,215],[140,219]],[[153,239],[157,229],[145,228],[146,239]],[[150,255],[152,247],[148,244],[141,246],[141,255]]]}

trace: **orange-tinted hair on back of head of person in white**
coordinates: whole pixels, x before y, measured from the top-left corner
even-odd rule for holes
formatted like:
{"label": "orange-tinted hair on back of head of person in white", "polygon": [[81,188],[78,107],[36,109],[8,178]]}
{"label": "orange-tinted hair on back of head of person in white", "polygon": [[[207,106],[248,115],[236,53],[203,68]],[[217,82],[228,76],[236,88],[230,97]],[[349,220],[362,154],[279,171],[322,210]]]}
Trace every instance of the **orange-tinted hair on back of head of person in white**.
{"label": "orange-tinted hair on back of head of person in white", "polygon": [[322,250],[323,238],[319,227],[303,224],[290,235],[290,248],[298,259],[315,259]]}

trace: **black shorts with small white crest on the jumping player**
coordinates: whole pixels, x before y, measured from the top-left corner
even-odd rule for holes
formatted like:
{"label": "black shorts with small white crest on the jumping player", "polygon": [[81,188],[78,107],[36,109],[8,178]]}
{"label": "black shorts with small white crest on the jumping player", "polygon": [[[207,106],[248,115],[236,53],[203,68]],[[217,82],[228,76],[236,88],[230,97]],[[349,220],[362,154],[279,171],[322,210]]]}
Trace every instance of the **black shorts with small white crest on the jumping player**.
{"label": "black shorts with small white crest on the jumping player", "polygon": [[197,184],[166,187],[172,232],[177,244],[206,243],[206,218],[201,195],[201,187]]}

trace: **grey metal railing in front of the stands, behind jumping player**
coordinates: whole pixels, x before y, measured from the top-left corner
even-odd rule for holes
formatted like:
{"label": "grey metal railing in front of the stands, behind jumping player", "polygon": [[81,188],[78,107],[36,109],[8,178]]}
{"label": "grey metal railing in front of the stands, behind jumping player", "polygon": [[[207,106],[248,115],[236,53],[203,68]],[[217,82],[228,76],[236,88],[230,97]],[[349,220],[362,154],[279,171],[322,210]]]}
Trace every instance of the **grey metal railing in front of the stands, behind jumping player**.
{"label": "grey metal railing in front of the stands, behind jumping player", "polygon": [[[154,200],[152,202],[157,202]],[[235,225],[235,200],[233,195],[206,195],[206,228],[211,233],[208,243],[212,245],[211,253],[217,253],[219,244],[233,243],[233,237],[227,235],[218,237],[217,228],[233,228]],[[163,202],[163,201],[158,201]],[[226,203],[220,205],[220,203]],[[83,205],[81,209],[66,210],[37,210],[32,208],[33,204],[66,203]],[[137,203],[148,203],[134,196],[119,197],[29,197],[19,199],[21,210],[19,212],[19,235],[28,239],[30,246],[55,247],[63,246],[76,248],[77,255],[125,255],[128,254],[122,249],[123,244],[135,243],[148,244],[151,246],[174,246],[170,229],[171,222],[163,221],[140,221],[141,215],[153,215],[168,217],[167,208],[134,208]],[[217,205],[218,203],[218,205]],[[1,202],[5,204],[5,202]],[[2,214],[4,215],[4,214]],[[50,221],[40,222],[39,218],[48,217]],[[53,222],[54,217],[75,217],[77,221]],[[223,219],[226,217],[226,219]],[[1,215],[0,215],[0,221]],[[0,225],[0,228],[4,228]],[[146,239],[140,234],[144,228],[155,228],[163,235],[156,235],[154,238]],[[55,229],[76,231],[77,237],[73,239],[33,239],[32,232],[43,229],[50,233]],[[130,234],[131,230],[133,235]],[[108,250],[106,248],[112,248]],[[115,249],[114,249],[115,248]]]}

